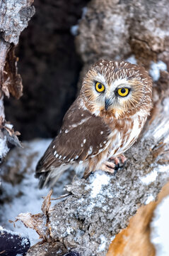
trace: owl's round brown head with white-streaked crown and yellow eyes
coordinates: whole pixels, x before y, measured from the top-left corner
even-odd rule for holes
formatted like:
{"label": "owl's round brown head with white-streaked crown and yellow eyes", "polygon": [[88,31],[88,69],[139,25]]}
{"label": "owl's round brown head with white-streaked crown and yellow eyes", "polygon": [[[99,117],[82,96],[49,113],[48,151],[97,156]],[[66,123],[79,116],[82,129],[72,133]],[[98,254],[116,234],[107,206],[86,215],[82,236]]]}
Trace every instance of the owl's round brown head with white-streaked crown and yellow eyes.
{"label": "owl's round brown head with white-streaked crown and yellow eyes", "polygon": [[99,60],[83,79],[81,97],[96,116],[122,119],[151,110],[152,80],[144,67]]}

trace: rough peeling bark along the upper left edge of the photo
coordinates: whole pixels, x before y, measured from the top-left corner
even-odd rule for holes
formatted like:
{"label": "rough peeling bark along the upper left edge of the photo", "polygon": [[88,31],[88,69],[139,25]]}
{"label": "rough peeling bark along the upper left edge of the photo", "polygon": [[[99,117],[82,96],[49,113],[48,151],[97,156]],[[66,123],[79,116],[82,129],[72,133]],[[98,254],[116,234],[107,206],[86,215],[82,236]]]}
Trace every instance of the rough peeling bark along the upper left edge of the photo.
{"label": "rough peeling bark along the upper left edge of the photo", "polygon": [[21,31],[35,13],[33,1],[0,1],[0,159],[8,152],[7,143],[20,145],[13,126],[5,120],[4,95],[18,99],[22,95],[21,76],[17,71],[15,47]]}

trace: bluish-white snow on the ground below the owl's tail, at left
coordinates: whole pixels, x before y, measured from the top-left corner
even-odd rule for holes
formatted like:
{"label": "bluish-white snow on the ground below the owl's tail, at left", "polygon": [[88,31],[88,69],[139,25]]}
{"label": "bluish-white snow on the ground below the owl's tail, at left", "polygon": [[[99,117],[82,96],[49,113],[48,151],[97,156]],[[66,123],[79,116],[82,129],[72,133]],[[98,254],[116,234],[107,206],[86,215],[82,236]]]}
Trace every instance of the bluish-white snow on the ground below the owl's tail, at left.
{"label": "bluish-white snow on the ground below the owl's tail, at left", "polygon": [[[23,143],[24,148],[18,149],[21,154],[16,154],[15,149],[13,152],[11,151],[10,154],[12,154],[7,161],[8,168],[15,169],[16,165],[18,165],[19,171],[23,174],[24,178],[21,183],[15,184],[14,186],[6,181],[1,181],[1,187],[5,193],[4,197],[11,198],[11,202],[6,202],[4,205],[1,205],[0,225],[8,230],[24,234],[24,236],[30,239],[31,245],[40,241],[35,230],[25,228],[20,221],[15,223],[15,228],[13,223],[9,223],[8,220],[16,220],[16,216],[19,213],[29,212],[34,214],[41,212],[42,197],[47,196],[50,188],[44,188],[42,190],[38,188],[38,179],[34,176],[35,166],[50,142],[51,139],[36,139],[32,142]],[[17,158],[18,161],[16,161]],[[29,164],[28,159],[30,159]],[[5,169],[1,170],[2,173],[5,171]],[[58,186],[54,186],[52,197],[56,198],[63,193],[64,185],[70,183],[68,180],[69,174],[69,171],[63,174],[64,178],[62,176],[62,181],[65,182],[64,184],[60,181]],[[52,203],[54,204],[56,202],[52,201]]]}

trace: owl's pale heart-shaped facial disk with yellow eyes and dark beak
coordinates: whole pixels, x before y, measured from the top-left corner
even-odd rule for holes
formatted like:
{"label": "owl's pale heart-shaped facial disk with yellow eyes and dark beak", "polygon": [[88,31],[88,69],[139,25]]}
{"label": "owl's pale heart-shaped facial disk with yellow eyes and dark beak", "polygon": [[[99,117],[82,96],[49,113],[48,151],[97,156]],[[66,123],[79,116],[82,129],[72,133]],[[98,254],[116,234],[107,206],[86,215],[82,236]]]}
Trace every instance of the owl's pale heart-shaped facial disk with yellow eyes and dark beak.
{"label": "owl's pale heart-shaped facial disk with yellow eyes and dark beak", "polygon": [[93,114],[113,114],[118,118],[132,107],[136,107],[136,102],[142,97],[142,89],[136,90],[136,85],[140,85],[139,81],[124,78],[108,84],[104,79],[100,79],[101,77],[97,76],[88,83],[83,92]]}

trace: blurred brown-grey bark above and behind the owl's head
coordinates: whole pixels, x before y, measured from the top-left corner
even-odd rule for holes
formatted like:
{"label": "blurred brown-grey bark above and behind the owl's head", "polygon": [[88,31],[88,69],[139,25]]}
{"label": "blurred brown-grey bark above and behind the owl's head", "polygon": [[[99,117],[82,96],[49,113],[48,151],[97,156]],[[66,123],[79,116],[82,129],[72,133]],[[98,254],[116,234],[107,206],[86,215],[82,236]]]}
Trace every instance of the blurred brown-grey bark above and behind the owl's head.
{"label": "blurred brown-grey bark above and behind the owl's head", "polygon": [[130,55],[148,69],[151,61],[169,67],[168,0],[93,0],[76,36],[76,48],[88,66],[99,58],[124,60]]}

